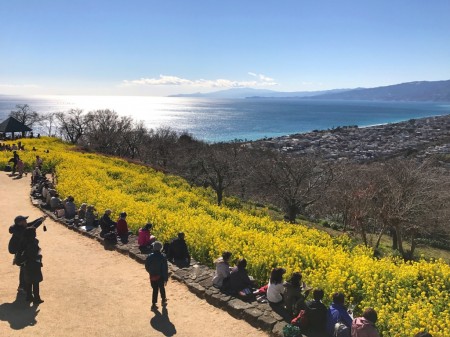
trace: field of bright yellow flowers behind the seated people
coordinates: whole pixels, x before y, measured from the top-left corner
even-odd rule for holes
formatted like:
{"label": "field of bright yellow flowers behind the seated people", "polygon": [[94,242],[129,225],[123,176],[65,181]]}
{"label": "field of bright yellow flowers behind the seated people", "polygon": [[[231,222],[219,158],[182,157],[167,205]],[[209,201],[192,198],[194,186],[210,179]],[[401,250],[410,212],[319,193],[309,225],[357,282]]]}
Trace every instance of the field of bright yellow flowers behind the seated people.
{"label": "field of bright yellow flowers behind the seated people", "polygon": [[[94,204],[99,212],[110,208],[114,217],[126,211],[134,231],[150,221],[161,241],[183,231],[192,255],[205,264],[212,265],[223,250],[229,250],[234,258],[247,259],[249,273],[260,282],[274,266],[285,267],[288,275],[299,270],[308,284],[324,289],[328,303],[333,292],[342,291],[357,304],[357,313],[374,307],[384,337],[410,337],[423,329],[435,337],[450,336],[450,267],[443,261],[377,260],[346,236],[332,238],[266,215],[218,207],[211,190],[191,187],[179,177],[72,151],[52,138],[23,143],[26,151],[19,154],[27,167],[32,167],[37,154],[44,159],[44,168],[56,166],[62,197],[72,195],[78,205]],[[30,151],[33,146],[36,152]],[[46,149],[49,153],[44,153]],[[11,157],[10,152],[0,152],[0,167]]]}

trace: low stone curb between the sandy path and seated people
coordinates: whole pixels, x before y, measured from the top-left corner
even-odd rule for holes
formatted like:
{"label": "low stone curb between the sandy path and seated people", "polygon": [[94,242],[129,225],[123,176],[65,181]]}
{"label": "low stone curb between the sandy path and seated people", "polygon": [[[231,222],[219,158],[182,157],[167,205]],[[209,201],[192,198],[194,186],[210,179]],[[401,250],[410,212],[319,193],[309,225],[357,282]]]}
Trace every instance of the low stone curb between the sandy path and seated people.
{"label": "low stone curb between the sandy path and seated people", "polygon": [[[105,244],[105,240],[99,236],[98,228],[89,232],[80,229],[77,226],[72,226],[64,221],[63,218],[58,218],[55,214],[47,209],[41,207],[41,201],[34,199],[31,196],[33,206],[41,209],[42,212],[51,217],[55,222],[66,226],[85,237],[97,240],[105,249],[115,250],[116,252],[129,256],[140,264],[145,264],[147,258],[146,254],[142,254],[136,244],[137,238],[135,235],[130,235],[129,243],[116,245]],[[273,311],[267,303],[245,302],[234,296],[224,294],[212,284],[212,277],[214,270],[199,264],[192,260],[187,267],[178,267],[169,262],[169,275],[173,280],[184,283],[190,292],[197,297],[205,299],[209,304],[227,311],[231,316],[245,320],[251,326],[268,332],[271,336],[282,337],[283,327],[287,322]]]}

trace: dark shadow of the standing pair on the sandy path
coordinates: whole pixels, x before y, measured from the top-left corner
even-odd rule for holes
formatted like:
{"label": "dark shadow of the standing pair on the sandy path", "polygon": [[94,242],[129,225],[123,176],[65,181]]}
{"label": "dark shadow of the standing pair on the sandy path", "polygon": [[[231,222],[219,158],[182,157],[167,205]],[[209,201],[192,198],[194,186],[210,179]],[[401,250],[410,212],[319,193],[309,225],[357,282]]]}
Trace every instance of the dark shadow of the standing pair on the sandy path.
{"label": "dark shadow of the standing pair on the sandy path", "polygon": [[21,330],[36,325],[39,309],[25,301],[25,294],[17,293],[12,303],[0,304],[0,320],[7,321],[11,329]]}

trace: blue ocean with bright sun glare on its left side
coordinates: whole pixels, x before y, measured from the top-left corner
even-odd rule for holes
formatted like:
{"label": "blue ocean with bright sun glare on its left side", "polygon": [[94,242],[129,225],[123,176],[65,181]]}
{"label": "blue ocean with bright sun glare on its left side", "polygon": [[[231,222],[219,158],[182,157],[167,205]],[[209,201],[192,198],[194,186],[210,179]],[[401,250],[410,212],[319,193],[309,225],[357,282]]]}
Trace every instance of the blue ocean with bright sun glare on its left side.
{"label": "blue ocean with bright sun glare on its left side", "polygon": [[256,140],[345,125],[369,126],[450,114],[450,103],[212,99],[144,96],[2,96],[0,121],[16,104],[39,113],[110,109],[149,128],[171,127],[208,142]]}

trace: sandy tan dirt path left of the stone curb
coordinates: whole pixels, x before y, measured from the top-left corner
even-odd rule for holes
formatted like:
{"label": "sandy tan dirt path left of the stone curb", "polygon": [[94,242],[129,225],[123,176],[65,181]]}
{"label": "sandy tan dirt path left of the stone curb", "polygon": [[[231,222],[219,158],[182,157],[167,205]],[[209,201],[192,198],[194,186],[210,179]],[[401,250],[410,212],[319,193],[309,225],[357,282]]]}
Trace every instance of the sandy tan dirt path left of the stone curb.
{"label": "sandy tan dirt path left of the stone curb", "polygon": [[29,178],[13,180],[0,172],[0,336],[267,337],[171,280],[167,310],[151,312],[148,274],[142,265],[50,219],[45,222],[47,232],[37,231],[45,303],[28,305],[24,295],[17,296],[19,269],[11,264],[7,246],[15,216],[41,216],[30,203],[29,188]]}

